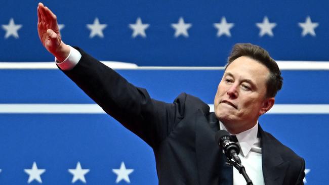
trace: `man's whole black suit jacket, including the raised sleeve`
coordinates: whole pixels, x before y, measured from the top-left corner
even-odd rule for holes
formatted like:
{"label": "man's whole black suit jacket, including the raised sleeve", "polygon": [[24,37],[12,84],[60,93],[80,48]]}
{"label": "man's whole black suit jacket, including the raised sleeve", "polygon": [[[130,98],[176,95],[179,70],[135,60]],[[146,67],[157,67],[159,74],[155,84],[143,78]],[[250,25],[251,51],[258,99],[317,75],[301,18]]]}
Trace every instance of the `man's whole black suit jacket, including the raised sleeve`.
{"label": "man's whole black suit jacket, including the raised sleeve", "polygon": [[[159,184],[232,184],[232,168],[215,142],[219,122],[207,104],[185,93],[171,104],[153,100],[145,89],[77,50],[79,63],[64,73],[152,147]],[[303,184],[304,160],[261,127],[258,134],[265,184]]]}

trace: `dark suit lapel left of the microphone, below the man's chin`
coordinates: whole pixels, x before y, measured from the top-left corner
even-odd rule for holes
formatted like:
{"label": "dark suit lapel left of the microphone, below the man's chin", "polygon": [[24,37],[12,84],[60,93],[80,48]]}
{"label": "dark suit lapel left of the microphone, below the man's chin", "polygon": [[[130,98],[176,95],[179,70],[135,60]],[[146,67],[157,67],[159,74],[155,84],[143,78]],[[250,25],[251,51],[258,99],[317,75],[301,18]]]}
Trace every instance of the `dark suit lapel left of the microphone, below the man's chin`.
{"label": "dark suit lapel left of the microphone, below the man's chin", "polygon": [[233,169],[215,141],[219,123],[214,113],[204,115],[198,110],[195,117],[195,150],[198,175],[202,185],[233,184]]}

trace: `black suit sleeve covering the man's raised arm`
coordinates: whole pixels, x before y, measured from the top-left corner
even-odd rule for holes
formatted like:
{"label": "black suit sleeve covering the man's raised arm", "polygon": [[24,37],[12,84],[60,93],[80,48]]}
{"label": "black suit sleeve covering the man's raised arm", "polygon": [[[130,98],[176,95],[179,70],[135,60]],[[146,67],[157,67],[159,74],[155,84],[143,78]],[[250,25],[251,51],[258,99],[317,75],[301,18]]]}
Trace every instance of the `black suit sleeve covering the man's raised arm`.
{"label": "black suit sleeve covering the man's raised arm", "polygon": [[184,117],[186,94],[168,104],[150,98],[144,88],[129,83],[111,68],[83,50],[78,64],[63,71],[102,109],[152,148],[156,147]]}

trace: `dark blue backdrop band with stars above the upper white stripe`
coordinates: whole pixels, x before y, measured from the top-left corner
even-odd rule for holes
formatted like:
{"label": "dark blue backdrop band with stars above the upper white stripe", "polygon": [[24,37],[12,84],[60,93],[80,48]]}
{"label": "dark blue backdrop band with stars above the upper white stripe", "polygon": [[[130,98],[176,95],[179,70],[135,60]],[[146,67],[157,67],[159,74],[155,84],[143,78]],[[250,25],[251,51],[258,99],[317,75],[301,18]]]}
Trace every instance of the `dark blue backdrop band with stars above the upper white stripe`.
{"label": "dark blue backdrop band with stars above the upper white stripe", "polygon": [[[223,66],[251,42],[275,60],[329,61],[328,1],[45,1],[63,40],[103,61]],[[38,41],[36,1],[2,1],[2,62],[52,61]]]}

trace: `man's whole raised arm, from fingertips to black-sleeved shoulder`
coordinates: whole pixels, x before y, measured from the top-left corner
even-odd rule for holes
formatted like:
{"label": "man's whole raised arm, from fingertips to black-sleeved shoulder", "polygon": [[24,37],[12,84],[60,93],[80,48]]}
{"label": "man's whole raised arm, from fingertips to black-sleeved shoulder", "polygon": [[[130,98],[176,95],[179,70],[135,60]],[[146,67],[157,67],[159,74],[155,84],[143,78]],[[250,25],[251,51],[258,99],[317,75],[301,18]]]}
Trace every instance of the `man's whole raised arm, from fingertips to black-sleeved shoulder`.
{"label": "man's whole raised arm, from fingertips to black-sleeved shoulder", "polygon": [[59,61],[63,62],[66,58],[66,61],[70,61],[74,51],[80,54],[79,61],[73,68],[59,68],[106,113],[151,147],[156,147],[165,140],[175,125],[184,118],[185,102],[188,97],[186,94],[179,96],[173,104],[151,99],[146,89],[129,83],[113,69],[83,50],[72,48],[70,53],[70,46],[61,39],[56,15],[42,3],[38,4],[37,16],[39,38],[44,47]]}

